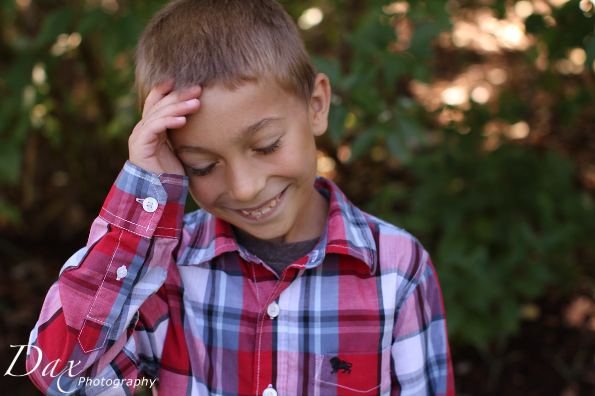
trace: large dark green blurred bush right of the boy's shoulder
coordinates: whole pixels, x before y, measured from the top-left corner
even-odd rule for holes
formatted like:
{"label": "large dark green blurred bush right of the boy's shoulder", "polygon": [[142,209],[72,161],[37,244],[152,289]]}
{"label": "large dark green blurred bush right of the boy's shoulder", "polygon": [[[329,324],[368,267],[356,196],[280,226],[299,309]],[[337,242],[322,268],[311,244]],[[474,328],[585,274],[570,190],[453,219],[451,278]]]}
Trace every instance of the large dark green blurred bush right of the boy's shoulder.
{"label": "large dark green blurred bush right of the boy's shoulder", "polygon": [[[444,145],[411,167],[415,186],[389,184],[367,209],[433,242],[452,340],[484,350],[518,331],[525,303],[578,279],[574,254],[590,243],[593,204],[574,185],[571,161],[510,145],[483,157]],[[396,201],[409,210],[392,211]]]}

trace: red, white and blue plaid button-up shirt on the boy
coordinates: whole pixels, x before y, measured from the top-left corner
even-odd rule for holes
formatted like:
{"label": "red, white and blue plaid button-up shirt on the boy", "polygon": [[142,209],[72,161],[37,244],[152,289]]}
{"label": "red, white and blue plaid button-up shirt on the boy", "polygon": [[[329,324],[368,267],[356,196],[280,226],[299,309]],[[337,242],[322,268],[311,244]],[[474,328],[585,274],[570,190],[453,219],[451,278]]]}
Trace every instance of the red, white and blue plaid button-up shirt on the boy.
{"label": "red, white and blue plaid button-up shirt on the boy", "polygon": [[186,178],[127,163],[48,292],[33,382],[48,395],[129,395],[139,373],[159,396],[454,395],[427,252],[330,180],[315,186],[324,233],[278,277],[227,222],[183,216]]}

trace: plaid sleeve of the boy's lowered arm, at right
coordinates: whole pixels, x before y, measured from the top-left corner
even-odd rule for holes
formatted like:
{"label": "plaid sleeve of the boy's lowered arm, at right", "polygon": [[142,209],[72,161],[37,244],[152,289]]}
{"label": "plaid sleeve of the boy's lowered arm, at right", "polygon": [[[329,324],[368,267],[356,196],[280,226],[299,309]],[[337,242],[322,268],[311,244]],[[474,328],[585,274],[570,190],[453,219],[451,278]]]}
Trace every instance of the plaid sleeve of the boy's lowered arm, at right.
{"label": "plaid sleeve of the boy's lowered arm, at right", "polygon": [[393,331],[391,395],[454,396],[444,305],[429,257],[403,299]]}

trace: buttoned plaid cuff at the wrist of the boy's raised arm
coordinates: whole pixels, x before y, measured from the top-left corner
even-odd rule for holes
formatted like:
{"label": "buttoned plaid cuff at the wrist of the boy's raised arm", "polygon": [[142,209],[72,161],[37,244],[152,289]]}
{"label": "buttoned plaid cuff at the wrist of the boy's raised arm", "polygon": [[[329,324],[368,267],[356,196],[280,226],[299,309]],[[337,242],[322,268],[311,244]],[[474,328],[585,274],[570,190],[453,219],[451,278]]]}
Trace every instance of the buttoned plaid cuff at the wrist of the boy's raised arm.
{"label": "buttoned plaid cuff at the wrist of the boy's raised arm", "polygon": [[109,191],[99,217],[142,237],[179,238],[188,178],[157,176],[126,161]]}

